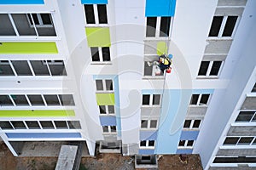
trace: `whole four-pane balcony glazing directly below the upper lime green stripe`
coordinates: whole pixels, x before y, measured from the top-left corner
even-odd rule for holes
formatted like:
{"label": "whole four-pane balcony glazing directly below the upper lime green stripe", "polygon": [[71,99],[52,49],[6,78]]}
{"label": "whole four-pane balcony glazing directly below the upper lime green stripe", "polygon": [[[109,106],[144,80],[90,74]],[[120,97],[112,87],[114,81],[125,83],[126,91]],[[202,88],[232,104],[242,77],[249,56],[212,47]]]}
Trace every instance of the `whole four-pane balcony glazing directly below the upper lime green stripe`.
{"label": "whole four-pane balcony glazing directly below the upper lime green stripe", "polygon": [[0,76],[67,76],[63,60],[0,60]]}

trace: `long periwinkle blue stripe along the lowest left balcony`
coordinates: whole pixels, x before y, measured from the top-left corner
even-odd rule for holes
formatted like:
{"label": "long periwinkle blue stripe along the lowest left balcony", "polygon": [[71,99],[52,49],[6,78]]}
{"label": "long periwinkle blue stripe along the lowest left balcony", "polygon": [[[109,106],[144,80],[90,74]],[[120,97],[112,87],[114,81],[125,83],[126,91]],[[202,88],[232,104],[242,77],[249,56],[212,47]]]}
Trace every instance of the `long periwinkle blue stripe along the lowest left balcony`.
{"label": "long periwinkle blue stripe along the lowest left balcony", "polygon": [[6,133],[8,138],[82,138],[81,133]]}

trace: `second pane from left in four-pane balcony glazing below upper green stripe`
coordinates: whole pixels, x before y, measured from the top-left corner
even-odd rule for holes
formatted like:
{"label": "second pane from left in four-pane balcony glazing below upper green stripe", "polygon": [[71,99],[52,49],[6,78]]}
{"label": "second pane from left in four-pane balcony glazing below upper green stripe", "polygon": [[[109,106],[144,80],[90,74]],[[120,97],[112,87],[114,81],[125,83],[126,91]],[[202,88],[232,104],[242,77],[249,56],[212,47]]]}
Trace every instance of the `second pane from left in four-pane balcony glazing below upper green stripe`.
{"label": "second pane from left in four-pane balcony glazing below upper green stripe", "polygon": [[11,62],[18,76],[32,76],[32,72],[26,60],[12,60]]}

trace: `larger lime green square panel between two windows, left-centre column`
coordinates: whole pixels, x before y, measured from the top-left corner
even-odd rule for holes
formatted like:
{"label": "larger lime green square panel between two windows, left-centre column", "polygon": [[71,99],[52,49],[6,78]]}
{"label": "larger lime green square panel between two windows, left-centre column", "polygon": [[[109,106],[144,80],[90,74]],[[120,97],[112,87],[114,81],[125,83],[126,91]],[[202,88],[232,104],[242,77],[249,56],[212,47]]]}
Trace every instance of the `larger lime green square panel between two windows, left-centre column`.
{"label": "larger lime green square panel between two windows, left-centre column", "polygon": [[87,27],[85,32],[89,47],[110,47],[108,27]]}

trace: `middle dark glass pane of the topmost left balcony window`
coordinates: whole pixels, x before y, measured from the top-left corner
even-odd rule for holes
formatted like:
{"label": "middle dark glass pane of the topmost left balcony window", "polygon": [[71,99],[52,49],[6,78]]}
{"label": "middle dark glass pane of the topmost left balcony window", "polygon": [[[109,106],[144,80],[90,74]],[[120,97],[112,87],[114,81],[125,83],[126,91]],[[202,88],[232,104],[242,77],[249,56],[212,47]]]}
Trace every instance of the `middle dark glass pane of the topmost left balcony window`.
{"label": "middle dark glass pane of the topmost left balcony window", "polygon": [[36,36],[34,26],[27,20],[27,14],[12,14],[15,26],[20,36]]}

